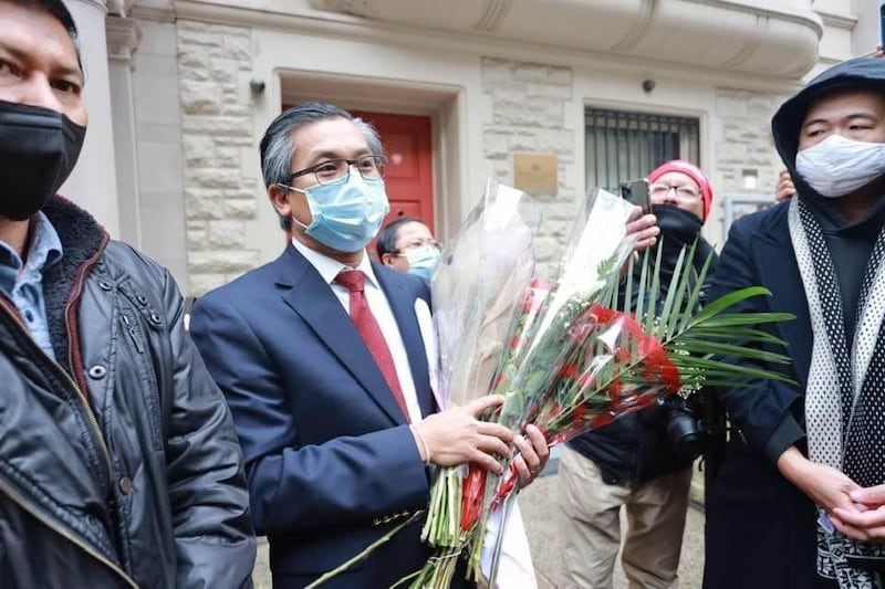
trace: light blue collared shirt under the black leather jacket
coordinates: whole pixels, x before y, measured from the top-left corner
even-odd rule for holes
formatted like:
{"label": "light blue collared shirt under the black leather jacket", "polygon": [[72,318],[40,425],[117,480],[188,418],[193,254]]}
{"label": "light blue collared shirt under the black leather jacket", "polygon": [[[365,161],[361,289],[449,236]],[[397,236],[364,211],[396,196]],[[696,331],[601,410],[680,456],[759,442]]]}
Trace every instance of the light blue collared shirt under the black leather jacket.
{"label": "light blue collared shirt under the black leather jacket", "polygon": [[38,346],[50,358],[55,358],[43,299],[43,270],[61,260],[62,242],[42,212],[38,212],[31,223],[25,263],[15,250],[0,241],[0,292],[19,309]]}

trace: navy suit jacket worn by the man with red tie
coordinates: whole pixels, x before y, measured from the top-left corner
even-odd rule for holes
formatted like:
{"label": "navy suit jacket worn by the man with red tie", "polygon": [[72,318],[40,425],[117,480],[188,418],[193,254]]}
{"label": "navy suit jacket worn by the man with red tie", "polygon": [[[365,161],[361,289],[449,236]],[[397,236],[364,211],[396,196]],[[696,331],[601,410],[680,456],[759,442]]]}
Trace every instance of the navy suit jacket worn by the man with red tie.
{"label": "navy suit jacket worn by the man with red tie", "polygon": [[[434,411],[415,276],[375,264],[424,414]],[[303,587],[427,505],[408,424],[351,318],[290,244],[200,297],[191,335],[225,392],[242,444],[256,529],[274,587]],[[420,523],[324,587],[387,587],[420,568]]]}

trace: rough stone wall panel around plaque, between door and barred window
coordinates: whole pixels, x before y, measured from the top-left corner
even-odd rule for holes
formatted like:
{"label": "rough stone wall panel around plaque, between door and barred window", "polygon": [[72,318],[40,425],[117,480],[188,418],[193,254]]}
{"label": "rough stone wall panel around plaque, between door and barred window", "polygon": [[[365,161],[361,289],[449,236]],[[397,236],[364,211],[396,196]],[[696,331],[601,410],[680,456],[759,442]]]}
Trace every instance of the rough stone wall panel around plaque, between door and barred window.
{"label": "rough stone wall panel around plaque, between door and barred window", "polygon": [[565,126],[572,101],[572,70],[542,63],[482,59],[482,90],[491,96],[492,120],[483,129],[483,155],[501,183],[513,185],[513,154],[553,154],[559,187],[535,194],[544,218],[535,239],[537,274],[552,277],[575,211],[575,130]]}

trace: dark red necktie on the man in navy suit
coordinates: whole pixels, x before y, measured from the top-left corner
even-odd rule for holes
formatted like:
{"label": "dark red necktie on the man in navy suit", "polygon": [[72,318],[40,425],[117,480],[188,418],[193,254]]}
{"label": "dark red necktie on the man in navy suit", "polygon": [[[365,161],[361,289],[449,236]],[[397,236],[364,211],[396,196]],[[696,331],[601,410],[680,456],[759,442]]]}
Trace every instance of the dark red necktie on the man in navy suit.
{"label": "dark red necktie on the man in navy suit", "polygon": [[406,421],[412,421],[408,414],[408,407],[406,406],[406,398],[403,396],[403,389],[399,388],[399,378],[396,376],[396,366],[394,365],[394,357],[391,355],[391,348],[387,347],[387,341],[384,339],[384,334],[381,332],[378,322],[368,308],[368,301],[366,301],[365,293],[365,274],[358,270],[344,270],[335,276],[335,282],[347,287],[351,292],[351,319],[360,332],[360,337],[363,338],[372,357],[381,368],[384,379],[391,387],[391,392],[394,393],[394,399],[403,410]]}

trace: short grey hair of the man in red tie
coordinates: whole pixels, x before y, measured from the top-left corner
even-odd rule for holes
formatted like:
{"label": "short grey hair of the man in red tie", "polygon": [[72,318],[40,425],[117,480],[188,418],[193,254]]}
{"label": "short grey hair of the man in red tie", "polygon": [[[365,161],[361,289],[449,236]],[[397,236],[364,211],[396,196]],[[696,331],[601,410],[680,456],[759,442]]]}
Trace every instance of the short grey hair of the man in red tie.
{"label": "short grey hair of the man in red tie", "polygon": [[[344,118],[356,125],[363,134],[372,155],[383,156],[384,146],[382,145],[378,132],[369,123],[362,118],[354,117],[347,111],[339,108],[332,104],[311,102],[303,103],[281,113],[264,132],[261,138],[261,176],[264,186],[270,188],[274,185],[288,185],[291,172],[292,158],[295,156],[295,144],[292,143],[292,132],[317,120],[329,118]],[[280,225],[289,231],[292,220],[280,218]]]}

